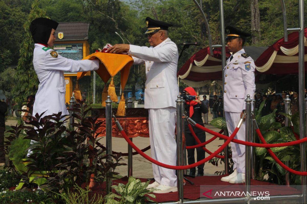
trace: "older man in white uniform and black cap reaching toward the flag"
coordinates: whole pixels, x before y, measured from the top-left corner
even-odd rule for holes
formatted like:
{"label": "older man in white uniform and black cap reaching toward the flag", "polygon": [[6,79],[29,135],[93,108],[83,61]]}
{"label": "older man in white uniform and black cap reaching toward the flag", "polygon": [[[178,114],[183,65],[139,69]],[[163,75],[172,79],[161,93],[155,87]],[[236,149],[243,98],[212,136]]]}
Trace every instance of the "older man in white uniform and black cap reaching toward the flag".
{"label": "older man in white uniform and black cap reaching toward the flag", "polygon": [[[117,44],[108,51],[128,52],[134,64],[146,66],[145,108],[149,110],[149,135],[153,159],[169,165],[176,165],[176,99],[178,49],[168,38],[168,24],[146,18],[148,42],[150,47]],[[155,182],[148,187],[157,188],[154,193],[177,191],[175,170],[153,164]]]}

